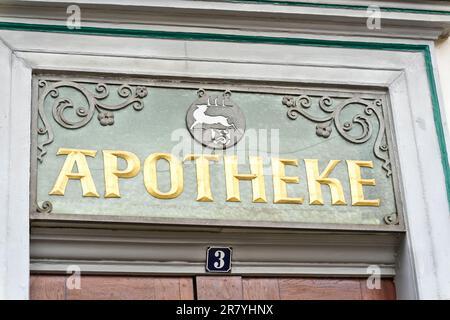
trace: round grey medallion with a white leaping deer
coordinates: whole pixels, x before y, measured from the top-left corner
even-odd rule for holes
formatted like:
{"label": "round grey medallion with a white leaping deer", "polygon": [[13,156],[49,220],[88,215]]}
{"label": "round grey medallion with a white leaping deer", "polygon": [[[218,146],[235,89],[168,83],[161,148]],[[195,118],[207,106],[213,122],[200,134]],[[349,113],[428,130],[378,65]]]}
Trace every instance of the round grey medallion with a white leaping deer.
{"label": "round grey medallion with a white leaping deer", "polygon": [[212,149],[226,149],[238,143],[245,132],[245,117],[231,100],[231,92],[208,95],[199,89],[197,96],[186,114],[192,137]]}

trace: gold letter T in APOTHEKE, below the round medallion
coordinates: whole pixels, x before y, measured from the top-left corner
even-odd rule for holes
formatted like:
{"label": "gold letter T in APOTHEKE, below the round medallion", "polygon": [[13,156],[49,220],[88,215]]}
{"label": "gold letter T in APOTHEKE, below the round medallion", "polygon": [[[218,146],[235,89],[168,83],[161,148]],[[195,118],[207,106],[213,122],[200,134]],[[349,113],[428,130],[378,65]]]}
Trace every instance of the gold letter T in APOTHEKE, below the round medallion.
{"label": "gold letter T in APOTHEKE, below the round medallion", "polygon": [[184,161],[195,160],[197,171],[197,201],[214,201],[211,193],[211,177],[209,174],[209,161],[219,161],[217,155],[188,154]]}

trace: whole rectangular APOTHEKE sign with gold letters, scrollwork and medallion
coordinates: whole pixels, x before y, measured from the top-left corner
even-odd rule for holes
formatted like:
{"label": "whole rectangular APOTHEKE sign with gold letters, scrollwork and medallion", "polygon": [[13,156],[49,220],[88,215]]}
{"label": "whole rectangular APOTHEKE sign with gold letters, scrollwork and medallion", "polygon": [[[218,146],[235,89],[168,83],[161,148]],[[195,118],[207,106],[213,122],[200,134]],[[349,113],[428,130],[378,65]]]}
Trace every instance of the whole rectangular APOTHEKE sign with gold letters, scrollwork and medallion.
{"label": "whole rectangular APOTHEKE sign with gold letters, scrollwork and medallion", "polygon": [[399,223],[382,92],[50,76],[34,84],[32,218]]}

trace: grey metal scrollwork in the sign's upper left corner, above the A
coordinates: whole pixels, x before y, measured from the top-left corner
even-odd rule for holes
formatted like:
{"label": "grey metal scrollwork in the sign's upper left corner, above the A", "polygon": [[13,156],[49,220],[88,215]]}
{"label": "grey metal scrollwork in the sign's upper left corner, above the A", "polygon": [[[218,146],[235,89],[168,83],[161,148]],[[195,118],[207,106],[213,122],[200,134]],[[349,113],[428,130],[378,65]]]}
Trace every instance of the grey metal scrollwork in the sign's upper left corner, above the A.
{"label": "grey metal scrollwork in the sign's upper left corner, above the A", "polygon": [[[52,115],[56,123],[66,129],[79,129],[92,120],[95,112],[98,112],[97,119],[100,125],[113,125],[114,111],[129,106],[132,106],[136,111],[140,111],[144,107],[142,99],[148,94],[147,88],[144,86],[131,87],[127,84],[123,84],[117,89],[117,94],[119,97],[124,98],[125,101],[116,105],[110,105],[103,101],[109,96],[109,87],[104,83],[98,83],[95,86],[95,92],[91,92],[83,87],[82,84],[72,81],[48,83],[45,80],[39,80],[38,86],[42,88],[43,91],[40,93],[38,101],[38,117],[41,123],[38,126],[37,133],[46,136],[45,140],[38,142],[37,144],[37,158],[40,162],[42,162],[43,157],[47,153],[46,146],[51,144],[54,140],[54,133],[44,110],[44,102],[48,96],[55,99],[52,106]],[[73,89],[80,93],[83,96],[86,105],[76,107],[71,99],[61,97],[61,88]],[[65,116],[68,109],[74,109],[75,115],[77,116],[76,120],[68,119]]]}

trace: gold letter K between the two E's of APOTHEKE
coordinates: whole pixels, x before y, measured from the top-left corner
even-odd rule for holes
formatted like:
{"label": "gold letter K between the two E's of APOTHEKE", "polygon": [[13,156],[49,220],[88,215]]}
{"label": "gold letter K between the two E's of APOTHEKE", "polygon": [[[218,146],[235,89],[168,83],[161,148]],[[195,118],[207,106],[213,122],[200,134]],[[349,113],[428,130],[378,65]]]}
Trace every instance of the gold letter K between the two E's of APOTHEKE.
{"label": "gold letter K between the two E's of APOTHEKE", "polygon": [[346,204],[344,198],[344,189],[338,179],[328,178],[331,172],[341,162],[340,160],[331,160],[325,170],[319,174],[319,160],[305,159],[306,177],[308,179],[309,204],[323,205],[322,186],[326,184],[331,191],[331,204]]}

